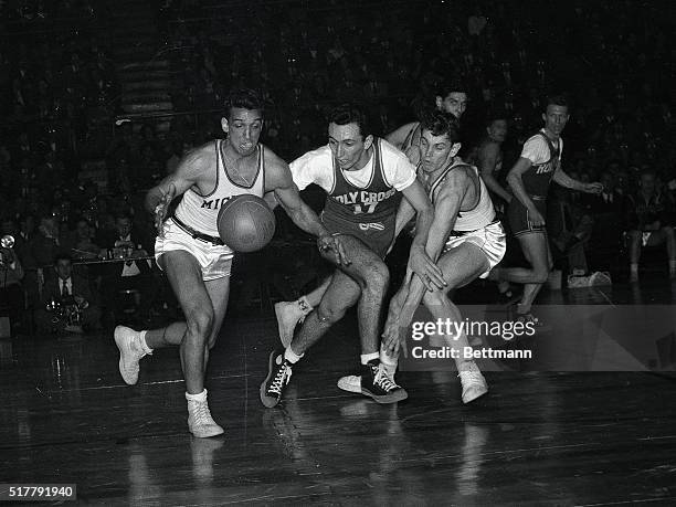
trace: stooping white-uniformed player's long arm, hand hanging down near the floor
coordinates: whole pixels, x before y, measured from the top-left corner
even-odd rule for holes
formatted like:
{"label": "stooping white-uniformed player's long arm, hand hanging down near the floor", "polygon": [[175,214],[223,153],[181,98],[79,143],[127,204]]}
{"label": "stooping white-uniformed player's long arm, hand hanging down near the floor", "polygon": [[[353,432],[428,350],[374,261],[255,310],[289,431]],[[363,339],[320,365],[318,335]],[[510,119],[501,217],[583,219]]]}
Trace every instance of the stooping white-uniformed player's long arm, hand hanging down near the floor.
{"label": "stooping white-uniformed player's long arm, hand hanging down near the floor", "polygon": [[[426,252],[431,258],[437,260],[444,244],[446,243],[455,220],[460,211],[465,189],[467,187],[467,176],[463,171],[451,171],[446,176],[443,188],[436,196],[434,205],[434,220],[430,226],[427,236]],[[394,356],[399,349],[400,331],[406,328],[413,319],[413,314],[420,305],[427,287],[424,281],[413,275],[404,281],[397,292],[388,310],[388,320],[382,335],[382,348],[390,356]]]}

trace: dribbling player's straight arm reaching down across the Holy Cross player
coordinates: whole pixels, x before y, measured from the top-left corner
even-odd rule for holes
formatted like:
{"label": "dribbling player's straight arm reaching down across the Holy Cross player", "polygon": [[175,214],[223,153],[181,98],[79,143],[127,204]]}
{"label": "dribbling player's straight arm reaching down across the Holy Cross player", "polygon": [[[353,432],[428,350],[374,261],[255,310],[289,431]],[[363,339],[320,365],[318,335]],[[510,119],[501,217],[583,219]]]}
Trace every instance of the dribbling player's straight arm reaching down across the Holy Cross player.
{"label": "dribbling player's straight arm reaching down across the Holy Cross player", "polygon": [[332,250],[338,264],[350,264],[340,237],[332,236],[317,213],[300,198],[288,165],[270,150],[265,151],[265,191],[274,191],[277,202],[293,222],[303,231],[317,237],[317,246],[320,250]]}

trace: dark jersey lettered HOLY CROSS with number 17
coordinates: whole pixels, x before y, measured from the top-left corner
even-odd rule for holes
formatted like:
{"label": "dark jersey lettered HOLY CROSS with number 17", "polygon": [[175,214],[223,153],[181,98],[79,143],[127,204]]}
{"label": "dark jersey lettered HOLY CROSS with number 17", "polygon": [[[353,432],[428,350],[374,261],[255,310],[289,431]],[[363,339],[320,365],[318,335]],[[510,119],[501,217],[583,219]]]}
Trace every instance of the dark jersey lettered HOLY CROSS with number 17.
{"label": "dark jersey lettered HOLY CROSS with number 17", "polygon": [[382,222],[397,215],[401,192],[385,180],[380,139],[376,138],[373,141],[373,171],[366,188],[350,183],[335,157],[332,166],[334,188],[326,198],[325,214],[355,223]]}

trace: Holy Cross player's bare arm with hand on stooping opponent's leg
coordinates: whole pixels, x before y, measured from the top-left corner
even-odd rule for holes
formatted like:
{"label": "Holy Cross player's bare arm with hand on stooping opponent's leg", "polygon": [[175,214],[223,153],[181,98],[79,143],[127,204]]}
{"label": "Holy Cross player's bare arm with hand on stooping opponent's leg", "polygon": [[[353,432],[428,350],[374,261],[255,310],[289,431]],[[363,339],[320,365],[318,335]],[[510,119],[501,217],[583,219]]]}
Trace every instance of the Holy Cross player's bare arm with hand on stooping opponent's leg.
{"label": "Holy Cross player's bare arm with hand on stooping opponent's leg", "polygon": [[430,226],[434,220],[434,207],[427,199],[418,178],[403,189],[402,193],[416,213],[415,236],[413,237],[413,244],[411,244],[408,271],[418,274],[429,289],[434,286],[441,288],[446,285],[443,273],[425,253]]}

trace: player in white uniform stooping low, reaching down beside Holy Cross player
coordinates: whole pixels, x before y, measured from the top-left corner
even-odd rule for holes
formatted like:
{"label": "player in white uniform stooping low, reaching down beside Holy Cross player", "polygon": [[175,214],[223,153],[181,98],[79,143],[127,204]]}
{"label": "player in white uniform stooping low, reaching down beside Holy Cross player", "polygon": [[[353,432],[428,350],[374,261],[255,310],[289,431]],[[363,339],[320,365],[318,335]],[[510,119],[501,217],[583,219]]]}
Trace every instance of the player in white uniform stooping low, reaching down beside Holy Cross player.
{"label": "player in white uniform stooping low, reaching down beside Holy Cross player", "polygon": [[[390,302],[383,332],[382,350],[397,362],[400,332],[408,328],[421,299],[435,321],[462,323],[457,306],[448,298],[448,291],[462,287],[476,278],[485,278],[505,254],[505,231],[496,218],[486,184],[478,170],[457,157],[460,126],[451,116],[436,112],[421,123],[421,170],[419,179],[434,205],[434,221],[430,228],[426,252],[436,260],[444,273],[443,288],[427,291],[418,276],[406,274],[401,288]],[[398,228],[412,216],[410,205],[398,216]],[[472,358],[463,357],[468,347],[464,331],[445,337],[457,350],[455,365],[462,383],[462,399],[469,403],[488,391],[486,380]],[[361,379],[344,377],[338,387],[361,392]]]}

